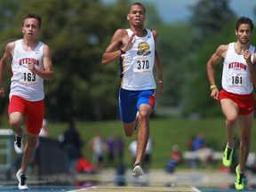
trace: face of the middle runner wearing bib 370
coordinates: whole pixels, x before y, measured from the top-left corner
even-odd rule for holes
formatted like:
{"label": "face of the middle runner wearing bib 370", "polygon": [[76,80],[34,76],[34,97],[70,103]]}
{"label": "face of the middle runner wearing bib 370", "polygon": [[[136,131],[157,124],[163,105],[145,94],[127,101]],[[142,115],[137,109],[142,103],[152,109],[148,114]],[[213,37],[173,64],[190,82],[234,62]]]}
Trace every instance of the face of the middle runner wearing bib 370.
{"label": "face of the middle runner wearing bib 370", "polygon": [[146,14],[143,7],[138,4],[132,5],[130,12],[127,15],[127,19],[130,20],[131,25],[134,27],[143,26],[143,23],[146,20]]}

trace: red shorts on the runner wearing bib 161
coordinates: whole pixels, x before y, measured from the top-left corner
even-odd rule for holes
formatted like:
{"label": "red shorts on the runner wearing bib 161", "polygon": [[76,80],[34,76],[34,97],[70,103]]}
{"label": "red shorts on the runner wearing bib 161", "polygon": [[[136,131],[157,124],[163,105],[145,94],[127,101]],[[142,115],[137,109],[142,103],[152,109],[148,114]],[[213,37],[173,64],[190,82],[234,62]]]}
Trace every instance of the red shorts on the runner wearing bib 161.
{"label": "red shorts on the runner wearing bib 161", "polygon": [[227,92],[226,90],[221,90],[219,93],[219,102],[222,99],[228,99],[234,101],[238,108],[239,114],[249,115],[254,110],[254,97],[253,93],[251,94],[235,94],[232,92]]}

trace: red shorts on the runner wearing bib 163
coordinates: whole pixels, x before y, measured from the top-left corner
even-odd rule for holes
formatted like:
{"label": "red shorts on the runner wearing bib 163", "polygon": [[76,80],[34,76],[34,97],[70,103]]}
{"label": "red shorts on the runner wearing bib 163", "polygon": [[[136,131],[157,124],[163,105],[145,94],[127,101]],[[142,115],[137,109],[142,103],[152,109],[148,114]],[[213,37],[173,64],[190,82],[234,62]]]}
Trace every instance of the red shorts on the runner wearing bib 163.
{"label": "red shorts on the runner wearing bib 163", "polygon": [[9,103],[9,116],[13,112],[20,112],[22,115],[26,114],[27,132],[39,134],[44,119],[44,100],[28,101],[17,95],[12,95]]}

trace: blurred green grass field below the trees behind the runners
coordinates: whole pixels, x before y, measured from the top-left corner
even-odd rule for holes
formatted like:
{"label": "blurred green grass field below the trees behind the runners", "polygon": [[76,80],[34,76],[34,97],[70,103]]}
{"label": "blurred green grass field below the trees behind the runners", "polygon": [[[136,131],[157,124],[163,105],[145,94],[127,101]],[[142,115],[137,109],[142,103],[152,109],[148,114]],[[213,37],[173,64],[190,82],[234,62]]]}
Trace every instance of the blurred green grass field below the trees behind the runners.
{"label": "blurred green grass field below the trees behind the runners", "polygon": [[[68,124],[55,124],[49,122],[48,130],[54,139],[64,132]],[[92,161],[92,152],[88,147],[88,141],[100,133],[103,140],[107,140],[108,135],[121,135],[125,142],[125,164],[132,164],[132,157],[128,151],[128,146],[136,136],[126,138],[120,121],[97,121],[97,122],[77,122],[76,129],[80,132],[84,141],[83,155]],[[236,136],[238,137],[238,126],[236,126]],[[226,144],[225,119],[204,119],[204,120],[173,120],[173,119],[151,119],[150,135],[153,139],[152,168],[164,168],[170,158],[172,145],[177,144],[180,151],[188,150],[188,141],[198,132],[204,133],[205,140],[210,148],[222,151]],[[256,136],[255,128],[252,130],[252,151],[256,148],[253,140]],[[186,166],[186,165],[185,165]]]}

